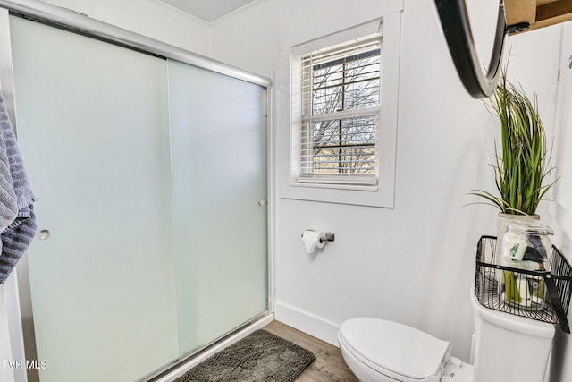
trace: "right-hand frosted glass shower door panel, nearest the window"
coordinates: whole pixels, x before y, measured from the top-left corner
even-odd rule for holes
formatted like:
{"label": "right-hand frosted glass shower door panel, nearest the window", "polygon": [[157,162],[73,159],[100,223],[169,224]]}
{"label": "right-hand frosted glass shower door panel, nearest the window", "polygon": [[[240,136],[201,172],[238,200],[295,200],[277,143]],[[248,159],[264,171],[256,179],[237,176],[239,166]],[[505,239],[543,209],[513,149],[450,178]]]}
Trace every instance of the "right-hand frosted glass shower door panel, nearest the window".
{"label": "right-hand frosted glass shower door panel, nearest the window", "polygon": [[169,61],[181,356],[267,309],[266,89]]}

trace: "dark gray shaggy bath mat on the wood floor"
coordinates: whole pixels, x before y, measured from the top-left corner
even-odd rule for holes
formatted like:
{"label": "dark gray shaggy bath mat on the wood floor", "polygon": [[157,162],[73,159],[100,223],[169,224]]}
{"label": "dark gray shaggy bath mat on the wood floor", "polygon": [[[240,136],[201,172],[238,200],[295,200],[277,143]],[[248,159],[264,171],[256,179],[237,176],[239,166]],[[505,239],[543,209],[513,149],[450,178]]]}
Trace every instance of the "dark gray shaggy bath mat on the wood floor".
{"label": "dark gray shaggy bath mat on the wood floor", "polygon": [[293,381],[315,355],[263,329],[202,361],[174,382]]}

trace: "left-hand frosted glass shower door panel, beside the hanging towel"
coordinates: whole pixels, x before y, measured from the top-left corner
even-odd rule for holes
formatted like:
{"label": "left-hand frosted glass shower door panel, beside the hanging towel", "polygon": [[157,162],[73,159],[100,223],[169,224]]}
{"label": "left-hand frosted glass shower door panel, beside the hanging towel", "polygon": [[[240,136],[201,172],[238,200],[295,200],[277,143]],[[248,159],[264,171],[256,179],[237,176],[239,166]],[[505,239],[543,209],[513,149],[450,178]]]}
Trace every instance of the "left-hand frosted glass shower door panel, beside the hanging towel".
{"label": "left-hand frosted glass shower door panel, beside the hanging towel", "polygon": [[40,380],[138,380],[178,357],[166,61],[11,28]]}

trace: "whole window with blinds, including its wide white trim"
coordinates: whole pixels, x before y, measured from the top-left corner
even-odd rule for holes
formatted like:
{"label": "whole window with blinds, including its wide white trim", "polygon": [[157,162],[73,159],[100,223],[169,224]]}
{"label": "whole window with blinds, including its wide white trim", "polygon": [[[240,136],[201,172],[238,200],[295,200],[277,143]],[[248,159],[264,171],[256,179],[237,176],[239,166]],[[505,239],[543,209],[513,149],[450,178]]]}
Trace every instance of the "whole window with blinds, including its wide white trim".
{"label": "whole window with blinds, including its wide white trim", "polygon": [[394,206],[401,10],[292,47],[282,198]]}

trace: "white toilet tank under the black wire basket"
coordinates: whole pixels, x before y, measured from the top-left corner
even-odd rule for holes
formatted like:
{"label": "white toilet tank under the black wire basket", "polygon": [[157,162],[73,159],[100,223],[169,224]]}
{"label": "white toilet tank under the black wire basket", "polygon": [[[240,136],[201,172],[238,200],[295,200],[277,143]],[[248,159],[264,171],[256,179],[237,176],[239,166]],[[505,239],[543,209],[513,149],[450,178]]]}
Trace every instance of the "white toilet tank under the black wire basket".
{"label": "white toilet tank under the black wire basket", "polygon": [[471,290],[475,313],[472,363],[475,382],[538,382],[544,379],[553,324],[484,308]]}

